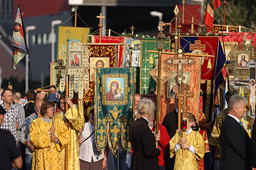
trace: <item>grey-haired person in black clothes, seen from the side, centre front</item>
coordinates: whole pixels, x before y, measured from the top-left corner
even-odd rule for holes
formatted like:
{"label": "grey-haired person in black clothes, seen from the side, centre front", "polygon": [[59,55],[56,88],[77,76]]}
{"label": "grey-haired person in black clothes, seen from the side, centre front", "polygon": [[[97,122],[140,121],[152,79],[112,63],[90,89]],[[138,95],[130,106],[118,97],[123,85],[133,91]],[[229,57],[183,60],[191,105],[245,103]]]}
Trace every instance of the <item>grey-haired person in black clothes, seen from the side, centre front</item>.
{"label": "grey-haired person in black clothes, seen from the side, centre front", "polygon": [[151,132],[149,125],[154,117],[155,104],[148,98],[142,98],[137,106],[137,120],[131,124],[130,141],[133,155],[131,170],[133,169],[159,169],[157,156],[160,149],[156,140],[160,140],[160,133],[156,136]]}

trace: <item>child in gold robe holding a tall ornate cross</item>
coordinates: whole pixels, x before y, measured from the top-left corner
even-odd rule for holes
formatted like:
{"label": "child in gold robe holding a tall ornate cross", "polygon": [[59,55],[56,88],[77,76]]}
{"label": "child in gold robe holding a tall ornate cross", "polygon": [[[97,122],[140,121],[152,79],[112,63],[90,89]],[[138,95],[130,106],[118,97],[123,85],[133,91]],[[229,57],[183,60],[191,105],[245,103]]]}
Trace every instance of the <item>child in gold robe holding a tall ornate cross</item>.
{"label": "child in gold robe holding a tall ornate cross", "polygon": [[[194,121],[192,114],[187,114],[186,138],[181,138],[182,131],[178,131],[170,140],[170,158],[176,155],[174,170],[196,170],[198,161],[204,156],[204,139],[198,131],[191,129]],[[182,149],[186,149],[186,157],[182,157]]]}

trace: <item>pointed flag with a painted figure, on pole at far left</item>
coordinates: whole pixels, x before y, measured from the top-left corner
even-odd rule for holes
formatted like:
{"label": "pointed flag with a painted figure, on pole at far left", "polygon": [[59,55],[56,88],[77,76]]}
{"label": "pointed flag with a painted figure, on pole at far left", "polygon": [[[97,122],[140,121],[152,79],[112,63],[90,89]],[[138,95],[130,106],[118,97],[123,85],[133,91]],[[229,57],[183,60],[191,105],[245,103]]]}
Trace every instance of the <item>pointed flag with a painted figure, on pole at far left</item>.
{"label": "pointed flag with a painted figure, on pole at far left", "polygon": [[26,54],[28,54],[28,47],[25,37],[25,29],[22,21],[20,5],[18,5],[17,9],[11,46],[14,47],[13,61],[11,63],[11,67],[16,70],[17,64],[20,62],[20,60],[23,59]]}

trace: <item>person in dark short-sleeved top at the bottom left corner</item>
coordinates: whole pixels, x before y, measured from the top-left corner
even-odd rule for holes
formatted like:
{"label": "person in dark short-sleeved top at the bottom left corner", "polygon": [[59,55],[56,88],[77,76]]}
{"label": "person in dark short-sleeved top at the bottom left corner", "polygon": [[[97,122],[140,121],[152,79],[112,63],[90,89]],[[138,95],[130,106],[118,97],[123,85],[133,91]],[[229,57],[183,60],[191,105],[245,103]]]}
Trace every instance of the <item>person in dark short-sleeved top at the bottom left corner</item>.
{"label": "person in dark short-sleeved top at the bottom left corner", "polygon": [[[3,123],[5,109],[0,106],[0,126]],[[0,166],[1,169],[22,168],[20,150],[9,131],[0,129]]]}

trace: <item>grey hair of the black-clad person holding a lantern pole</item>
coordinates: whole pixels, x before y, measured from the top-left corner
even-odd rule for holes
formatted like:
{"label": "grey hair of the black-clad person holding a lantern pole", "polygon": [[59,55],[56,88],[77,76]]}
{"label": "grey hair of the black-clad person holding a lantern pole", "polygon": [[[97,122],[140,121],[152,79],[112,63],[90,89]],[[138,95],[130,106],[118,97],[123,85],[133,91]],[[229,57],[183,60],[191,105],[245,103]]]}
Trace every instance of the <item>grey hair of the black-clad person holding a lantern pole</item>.
{"label": "grey hair of the black-clad person holding a lantern pole", "polygon": [[142,98],[137,106],[138,114],[136,115],[137,119],[140,119],[143,115],[149,112],[150,117],[154,114],[155,104],[152,100],[148,98]]}

